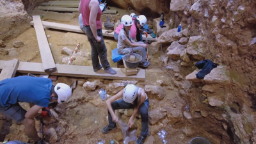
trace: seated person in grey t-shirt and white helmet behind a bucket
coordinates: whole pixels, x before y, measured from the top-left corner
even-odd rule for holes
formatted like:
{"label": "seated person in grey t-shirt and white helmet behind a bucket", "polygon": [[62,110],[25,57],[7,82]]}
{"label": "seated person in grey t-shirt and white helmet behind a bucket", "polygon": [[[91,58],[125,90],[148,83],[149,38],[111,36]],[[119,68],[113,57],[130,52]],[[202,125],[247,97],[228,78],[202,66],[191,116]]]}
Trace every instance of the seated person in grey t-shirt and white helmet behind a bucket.
{"label": "seated person in grey t-shirt and white helmet behind a bucket", "polygon": [[145,48],[148,47],[148,45],[144,44],[143,42],[135,42],[134,40],[132,40],[130,29],[133,22],[132,18],[129,15],[124,15],[121,20],[124,28],[120,30],[120,33],[118,35],[118,54],[123,55],[131,53],[132,51],[137,52],[138,54],[140,54],[140,56],[142,56],[142,60],[138,67],[147,68],[150,63],[145,60],[147,58]]}

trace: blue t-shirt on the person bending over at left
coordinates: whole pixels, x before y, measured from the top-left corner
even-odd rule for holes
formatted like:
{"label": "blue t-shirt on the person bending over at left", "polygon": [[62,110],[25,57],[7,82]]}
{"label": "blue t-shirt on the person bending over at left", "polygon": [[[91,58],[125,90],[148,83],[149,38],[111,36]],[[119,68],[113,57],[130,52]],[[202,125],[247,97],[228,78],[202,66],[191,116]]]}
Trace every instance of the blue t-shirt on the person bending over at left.
{"label": "blue t-shirt on the person bending over at left", "polygon": [[8,106],[18,102],[48,107],[51,100],[51,79],[19,76],[0,81],[0,104]]}

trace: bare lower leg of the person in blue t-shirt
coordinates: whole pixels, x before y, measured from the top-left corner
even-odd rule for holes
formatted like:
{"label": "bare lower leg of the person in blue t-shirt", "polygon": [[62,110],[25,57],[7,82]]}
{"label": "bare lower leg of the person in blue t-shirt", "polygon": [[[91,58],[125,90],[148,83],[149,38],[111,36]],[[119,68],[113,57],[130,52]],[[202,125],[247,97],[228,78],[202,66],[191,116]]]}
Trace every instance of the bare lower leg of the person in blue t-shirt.
{"label": "bare lower leg of the person in blue t-shirt", "polygon": [[34,118],[25,118],[21,122],[25,126],[25,134],[32,138],[34,141],[40,140],[40,137],[37,135],[36,127],[35,127],[35,120]]}

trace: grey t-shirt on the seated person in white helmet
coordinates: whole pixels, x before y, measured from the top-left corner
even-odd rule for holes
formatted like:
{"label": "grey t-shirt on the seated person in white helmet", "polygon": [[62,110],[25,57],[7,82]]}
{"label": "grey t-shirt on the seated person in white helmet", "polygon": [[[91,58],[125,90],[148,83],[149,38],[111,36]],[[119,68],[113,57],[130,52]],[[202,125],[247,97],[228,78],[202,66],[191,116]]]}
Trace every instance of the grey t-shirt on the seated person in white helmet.
{"label": "grey t-shirt on the seated person in white helmet", "polygon": [[119,35],[118,35],[118,42],[117,42],[117,51],[118,53],[122,53],[122,50],[125,48],[128,48],[129,45],[125,44],[124,40],[128,38],[130,40],[131,38],[131,31],[129,31],[129,35],[126,35],[126,32],[124,29],[121,29]]}

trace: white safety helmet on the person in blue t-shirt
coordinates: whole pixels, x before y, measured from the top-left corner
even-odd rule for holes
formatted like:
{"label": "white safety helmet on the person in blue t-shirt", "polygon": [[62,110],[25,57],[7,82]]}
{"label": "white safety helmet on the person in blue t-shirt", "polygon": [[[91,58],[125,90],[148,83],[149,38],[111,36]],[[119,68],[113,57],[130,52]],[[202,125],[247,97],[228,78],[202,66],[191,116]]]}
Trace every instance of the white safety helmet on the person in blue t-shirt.
{"label": "white safety helmet on the person in blue t-shirt", "polygon": [[65,83],[57,83],[54,92],[58,95],[58,103],[67,101],[72,95],[71,88]]}

